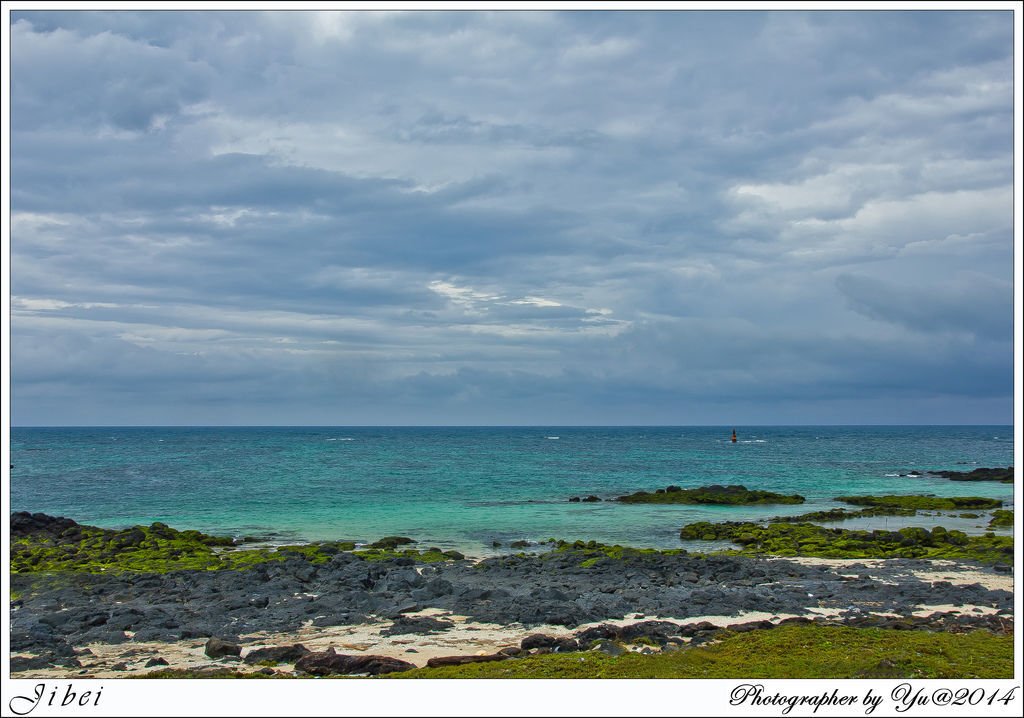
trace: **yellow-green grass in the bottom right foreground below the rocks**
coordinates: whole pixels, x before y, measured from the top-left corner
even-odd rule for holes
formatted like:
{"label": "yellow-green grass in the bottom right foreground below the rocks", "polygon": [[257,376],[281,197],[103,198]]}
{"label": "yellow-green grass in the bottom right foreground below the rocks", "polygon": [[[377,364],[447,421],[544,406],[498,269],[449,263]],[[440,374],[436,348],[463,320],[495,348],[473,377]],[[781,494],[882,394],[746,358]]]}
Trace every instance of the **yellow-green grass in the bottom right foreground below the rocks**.
{"label": "yellow-green grass in the bottom right foreground below the rocks", "polygon": [[550,653],[388,678],[1012,678],[1012,635],[785,626],[669,653]]}

